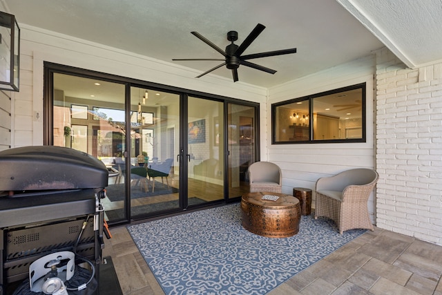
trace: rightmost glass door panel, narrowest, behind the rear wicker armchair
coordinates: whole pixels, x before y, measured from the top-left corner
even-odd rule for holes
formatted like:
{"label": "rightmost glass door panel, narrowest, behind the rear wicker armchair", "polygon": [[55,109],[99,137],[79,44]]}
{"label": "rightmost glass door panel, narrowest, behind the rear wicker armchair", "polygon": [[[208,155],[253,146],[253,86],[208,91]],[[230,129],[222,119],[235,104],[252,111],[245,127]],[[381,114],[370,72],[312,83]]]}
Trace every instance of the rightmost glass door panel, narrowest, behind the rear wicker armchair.
{"label": "rightmost glass door panel, narrowest, behind the rear wicker armchair", "polygon": [[247,169],[256,161],[255,108],[227,104],[229,198],[249,192]]}

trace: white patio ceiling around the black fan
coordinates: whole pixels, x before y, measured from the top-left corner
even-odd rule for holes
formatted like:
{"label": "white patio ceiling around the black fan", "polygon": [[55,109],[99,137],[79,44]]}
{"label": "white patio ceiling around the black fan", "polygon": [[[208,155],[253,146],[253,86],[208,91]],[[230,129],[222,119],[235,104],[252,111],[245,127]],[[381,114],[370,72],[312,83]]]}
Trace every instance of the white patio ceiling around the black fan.
{"label": "white patio ceiling around the black fan", "polygon": [[[297,48],[297,53],[250,60],[274,75],[240,66],[240,82],[271,87],[369,55],[387,46],[407,66],[442,60],[441,0],[1,0],[19,25],[36,26],[195,69],[222,58],[191,35],[224,49],[240,44],[257,23],[267,28],[244,54]],[[231,79],[222,67],[209,75]],[[201,77],[199,79],[204,79]],[[233,83],[233,82],[232,82]]]}

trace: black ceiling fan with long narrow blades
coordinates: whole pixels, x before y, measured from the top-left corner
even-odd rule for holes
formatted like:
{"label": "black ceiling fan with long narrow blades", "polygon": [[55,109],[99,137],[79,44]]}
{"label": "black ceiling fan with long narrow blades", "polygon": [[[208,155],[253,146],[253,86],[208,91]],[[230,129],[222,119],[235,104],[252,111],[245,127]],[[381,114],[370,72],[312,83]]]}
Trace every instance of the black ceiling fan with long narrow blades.
{"label": "black ceiling fan with long narrow blades", "polygon": [[218,66],[215,66],[214,68],[211,68],[210,70],[207,70],[206,72],[199,75],[197,78],[202,77],[208,73],[211,73],[213,70],[216,70],[217,68],[221,68],[222,66],[226,66],[230,70],[232,70],[233,75],[233,82],[238,81],[238,67],[242,64],[243,66],[248,66],[249,68],[256,68],[257,70],[262,70],[267,73],[274,74],[276,73],[276,70],[272,70],[271,68],[266,68],[265,66],[260,66],[258,64],[253,64],[250,61],[247,61],[247,59],[257,59],[260,57],[271,57],[275,55],[287,55],[290,53],[296,53],[296,48],[289,48],[289,49],[283,49],[283,50],[274,50],[274,51],[267,51],[265,53],[255,53],[253,55],[242,55],[244,51],[250,46],[250,44],[260,35],[260,33],[265,29],[265,26],[258,23],[258,25],[250,32],[249,36],[247,36],[244,41],[242,41],[242,44],[240,46],[233,44],[234,41],[238,40],[238,32],[231,30],[227,33],[227,40],[231,41],[231,44],[226,46],[226,50],[222,50],[215,44],[213,44],[208,39],[204,38],[200,33],[198,32],[191,32],[193,35],[195,35],[198,39],[203,41],[205,44],[211,46],[211,48],[218,51],[218,53],[221,53],[224,55],[224,59],[172,59],[173,61],[202,61],[202,60],[218,60],[218,61],[224,61],[222,64],[219,64]]}

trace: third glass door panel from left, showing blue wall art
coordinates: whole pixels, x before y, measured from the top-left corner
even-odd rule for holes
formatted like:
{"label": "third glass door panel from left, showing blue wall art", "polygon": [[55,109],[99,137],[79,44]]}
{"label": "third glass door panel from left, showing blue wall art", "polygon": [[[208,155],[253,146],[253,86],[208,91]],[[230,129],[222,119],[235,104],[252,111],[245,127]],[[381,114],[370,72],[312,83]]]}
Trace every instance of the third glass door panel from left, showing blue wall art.
{"label": "third glass door panel from left, showing blue wall art", "polygon": [[223,103],[189,97],[188,204],[224,199]]}

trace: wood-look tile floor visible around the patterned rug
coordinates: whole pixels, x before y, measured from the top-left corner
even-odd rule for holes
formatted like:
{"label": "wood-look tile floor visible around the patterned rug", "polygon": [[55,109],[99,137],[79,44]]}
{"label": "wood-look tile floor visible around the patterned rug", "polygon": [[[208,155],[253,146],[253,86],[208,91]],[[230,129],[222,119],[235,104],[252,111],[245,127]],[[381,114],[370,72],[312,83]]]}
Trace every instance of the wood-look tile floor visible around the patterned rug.
{"label": "wood-look tile floor visible around the patterned rug", "polygon": [[[112,256],[123,294],[164,294],[126,227],[111,229]],[[442,246],[378,229],[367,231],[269,295],[442,295]]]}

